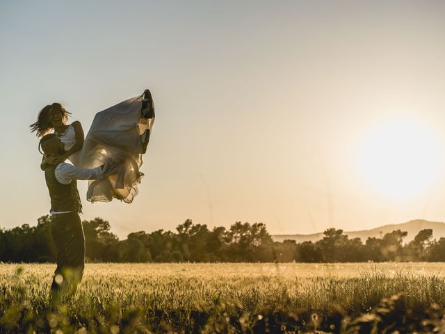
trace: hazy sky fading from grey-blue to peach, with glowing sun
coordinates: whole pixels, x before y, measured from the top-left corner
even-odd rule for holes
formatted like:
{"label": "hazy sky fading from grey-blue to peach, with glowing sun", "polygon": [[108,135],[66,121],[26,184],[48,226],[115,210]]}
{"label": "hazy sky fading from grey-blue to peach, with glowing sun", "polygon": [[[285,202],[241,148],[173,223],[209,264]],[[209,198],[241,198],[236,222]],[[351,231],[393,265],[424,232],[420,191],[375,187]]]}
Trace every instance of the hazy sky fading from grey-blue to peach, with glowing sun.
{"label": "hazy sky fading from grey-blue to peach, with glowing sun", "polygon": [[139,195],[86,201],[119,237],[186,218],[269,232],[445,221],[444,1],[1,1],[0,226],[49,211],[38,111],[150,88]]}

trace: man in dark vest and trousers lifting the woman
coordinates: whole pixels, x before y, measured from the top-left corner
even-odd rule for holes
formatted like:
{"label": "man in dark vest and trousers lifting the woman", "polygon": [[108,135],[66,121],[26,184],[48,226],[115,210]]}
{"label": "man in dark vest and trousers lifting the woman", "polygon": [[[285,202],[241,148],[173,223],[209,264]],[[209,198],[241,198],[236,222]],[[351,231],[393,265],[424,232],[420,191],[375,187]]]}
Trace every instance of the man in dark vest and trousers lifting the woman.
{"label": "man in dark vest and trousers lifting the woman", "polygon": [[[39,148],[46,157],[59,157],[65,153],[64,145],[56,134],[40,139]],[[57,249],[57,268],[51,285],[51,298],[60,294],[74,294],[83,276],[85,264],[85,237],[79,213],[82,203],[76,180],[97,180],[104,166],[86,169],[71,164],[45,164],[44,177],[51,198],[51,232]]]}

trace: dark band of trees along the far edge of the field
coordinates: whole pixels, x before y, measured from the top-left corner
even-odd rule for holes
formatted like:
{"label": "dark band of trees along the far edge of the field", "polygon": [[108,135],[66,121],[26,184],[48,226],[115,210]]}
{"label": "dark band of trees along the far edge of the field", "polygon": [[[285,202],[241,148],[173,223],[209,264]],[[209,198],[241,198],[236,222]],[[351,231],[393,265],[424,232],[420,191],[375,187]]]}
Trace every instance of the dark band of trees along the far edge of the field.
{"label": "dark band of trees along the far edge of the field", "polygon": [[[395,230],[381,238],[349,239],[343,230],[325,230],[316,242],[273,241],[264,223],[236,222],[211,230],[190,219],[176,232],[133,232],[120,240],[108,221],[83,221],[86,257],[90,262],[439,262],[445,261],[445,238],[421,230],[409,243],[407,232]],[[51,216],[35,226],[0,228],[1,262],[55,262]]]}

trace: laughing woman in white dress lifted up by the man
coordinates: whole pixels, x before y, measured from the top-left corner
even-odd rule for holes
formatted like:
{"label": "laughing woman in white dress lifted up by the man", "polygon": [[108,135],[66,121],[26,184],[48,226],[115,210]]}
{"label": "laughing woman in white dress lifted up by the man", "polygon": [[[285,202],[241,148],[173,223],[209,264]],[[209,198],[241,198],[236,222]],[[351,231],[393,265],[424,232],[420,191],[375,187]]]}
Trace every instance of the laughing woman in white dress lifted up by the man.
{"label": "laughing woman in white dress lifted up by the man", "polygon": [[154,103],[149,90],[96,114],[86,138],[81,123],[67,124],[68,113],[61,104],[45,106],[31,131],[44,136],[51,130],[65,145],[66,154],[56,160],[44,159],[42,164],[58,164],[65,159],[81,168],[94,168],[109,161],[115,164],[106,171],[106,177],[90,181],[87,200],[109,202],[113,198],[130,203],[138,194],[143,173],[142,156],[154,123]]}

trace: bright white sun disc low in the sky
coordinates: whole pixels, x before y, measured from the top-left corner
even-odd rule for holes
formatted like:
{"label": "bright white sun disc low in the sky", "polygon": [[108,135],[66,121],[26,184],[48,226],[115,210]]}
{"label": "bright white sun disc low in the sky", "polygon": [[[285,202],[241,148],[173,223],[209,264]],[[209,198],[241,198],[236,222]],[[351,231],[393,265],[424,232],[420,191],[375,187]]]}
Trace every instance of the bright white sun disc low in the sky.
{"label": "bright white sun disc low in the sky", "polygon": [[373,191],[396,199],[419,196],[443,172],[440,141],[425,125],[391,120],[359,145],[359,170]]}

